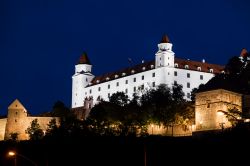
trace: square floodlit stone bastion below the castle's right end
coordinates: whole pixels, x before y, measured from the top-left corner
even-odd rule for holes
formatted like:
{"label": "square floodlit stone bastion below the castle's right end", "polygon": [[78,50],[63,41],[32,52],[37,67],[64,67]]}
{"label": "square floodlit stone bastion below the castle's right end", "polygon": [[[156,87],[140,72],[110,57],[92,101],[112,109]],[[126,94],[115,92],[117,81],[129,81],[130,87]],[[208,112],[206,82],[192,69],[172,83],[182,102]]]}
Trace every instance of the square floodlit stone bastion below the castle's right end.
{"label": "square floodlit stone bastion below the castle's right end", "polygon": [[231,127],[223,113],[236,108],[242,111],[242,95],[224,89],[211,90],[196,94],[195,123],[196,130],[214,130]]}

